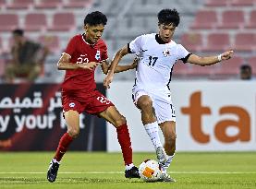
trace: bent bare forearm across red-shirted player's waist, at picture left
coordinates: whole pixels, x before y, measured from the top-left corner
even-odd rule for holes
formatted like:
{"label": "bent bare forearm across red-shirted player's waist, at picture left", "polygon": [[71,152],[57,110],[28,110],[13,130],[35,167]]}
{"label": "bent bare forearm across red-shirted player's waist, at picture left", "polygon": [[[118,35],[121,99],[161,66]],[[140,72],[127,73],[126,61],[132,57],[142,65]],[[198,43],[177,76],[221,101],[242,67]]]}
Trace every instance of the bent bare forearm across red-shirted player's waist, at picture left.
{"label": "bent bare forearm across red-shirted player's waist, at picture left", "polygon": [[67,53],[63,53],[57,63],[57,67],[59,70],[68,70],[68,69],[72,70],[72,69],[78,69],[78,68],[92,70],[97,65],[100,65],[100,63],[90,62],[86,64],[72,64],[70,63],[70,56]]}

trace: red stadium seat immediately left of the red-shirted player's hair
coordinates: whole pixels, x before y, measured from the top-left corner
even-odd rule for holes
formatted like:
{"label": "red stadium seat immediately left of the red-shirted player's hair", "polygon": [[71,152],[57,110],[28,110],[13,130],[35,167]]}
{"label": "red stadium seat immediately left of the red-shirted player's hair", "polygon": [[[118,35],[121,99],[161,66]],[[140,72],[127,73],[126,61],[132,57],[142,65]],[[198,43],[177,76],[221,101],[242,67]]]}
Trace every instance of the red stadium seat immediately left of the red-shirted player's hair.
{"label": "red stadium seat immediately left of the red-shirted player's hair", "polygon": [[68,31],[75,29],[75,16],[73,13],[55,13],[51,31]]}

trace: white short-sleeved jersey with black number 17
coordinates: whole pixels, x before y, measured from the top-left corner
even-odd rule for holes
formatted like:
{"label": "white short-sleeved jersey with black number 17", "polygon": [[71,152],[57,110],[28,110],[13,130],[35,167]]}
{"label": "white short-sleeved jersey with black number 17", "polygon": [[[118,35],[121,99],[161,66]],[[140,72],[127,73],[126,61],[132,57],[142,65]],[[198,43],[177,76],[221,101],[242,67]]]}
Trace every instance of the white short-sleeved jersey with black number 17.
{"label": "white short-sleeved jersey with black number 17", "polygon": [[[161,43],[156,33],[141,35],[128,44],[129,53],[139,55],[134,88],[168,90],[173,65],[189,52],[175,41]],[[185,60],[186,61],[186,60]]]}

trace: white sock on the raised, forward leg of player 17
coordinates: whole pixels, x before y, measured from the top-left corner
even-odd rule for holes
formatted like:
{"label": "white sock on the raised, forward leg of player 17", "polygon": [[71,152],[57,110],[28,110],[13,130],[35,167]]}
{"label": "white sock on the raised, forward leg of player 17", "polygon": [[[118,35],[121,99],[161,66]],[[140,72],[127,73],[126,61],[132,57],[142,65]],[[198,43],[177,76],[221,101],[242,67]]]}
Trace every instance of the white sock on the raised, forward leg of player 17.
{"label": "white sock on the raised, forward leg of player 17", "polygon": [[158,124],[157,122],[154,122],[152,124],[145,124],[144,128],[148,134],[148,136],[150,136],[151,140],[152,140],[152,145],[153,147],[159,148],[159,147],[163,147],[161,141],[160,141],[160,137],[158,135]]}

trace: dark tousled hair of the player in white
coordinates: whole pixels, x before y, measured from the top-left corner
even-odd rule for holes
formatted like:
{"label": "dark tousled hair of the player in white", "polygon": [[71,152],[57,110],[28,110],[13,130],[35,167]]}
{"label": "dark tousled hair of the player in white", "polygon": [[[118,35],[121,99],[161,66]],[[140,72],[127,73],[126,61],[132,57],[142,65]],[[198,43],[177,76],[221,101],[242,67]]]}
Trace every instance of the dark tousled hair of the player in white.
{"label": "dark tousled hair of the player in white", "polygon": [[179,14],[177,9],[162,9],[158,15],[158,24],[174,24],[175,27],[179,24]]}

